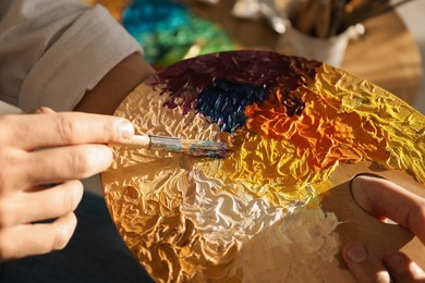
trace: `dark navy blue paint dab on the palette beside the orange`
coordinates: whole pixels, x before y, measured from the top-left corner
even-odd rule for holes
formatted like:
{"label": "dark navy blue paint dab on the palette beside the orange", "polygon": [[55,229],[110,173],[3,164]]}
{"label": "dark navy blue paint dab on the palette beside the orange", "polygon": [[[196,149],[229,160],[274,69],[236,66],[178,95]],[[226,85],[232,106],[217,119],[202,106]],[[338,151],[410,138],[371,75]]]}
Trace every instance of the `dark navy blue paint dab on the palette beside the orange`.
{"label": "dark navy blue paint dab on the palette beside the orange", "polygon": [[233,133],[246,121],[245,108],[262,101],[266,88],[219,79],[199,94],[197,111],[216,122],[221,131]]}

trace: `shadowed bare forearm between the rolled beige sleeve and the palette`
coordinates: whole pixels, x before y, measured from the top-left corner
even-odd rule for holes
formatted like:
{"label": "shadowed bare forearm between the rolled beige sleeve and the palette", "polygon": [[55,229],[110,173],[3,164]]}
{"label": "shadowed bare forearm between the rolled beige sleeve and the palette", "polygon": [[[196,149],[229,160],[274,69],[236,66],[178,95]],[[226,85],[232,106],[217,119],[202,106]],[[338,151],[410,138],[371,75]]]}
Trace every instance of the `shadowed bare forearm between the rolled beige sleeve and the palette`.
{"label": "shadowed bare forearm between the rolled beige sleeve and the palette", "polygon": [[100,82],[86,91],[75,111],[113,114],[121,101],[144,79],[155,73],[139,53],[117,64]]}

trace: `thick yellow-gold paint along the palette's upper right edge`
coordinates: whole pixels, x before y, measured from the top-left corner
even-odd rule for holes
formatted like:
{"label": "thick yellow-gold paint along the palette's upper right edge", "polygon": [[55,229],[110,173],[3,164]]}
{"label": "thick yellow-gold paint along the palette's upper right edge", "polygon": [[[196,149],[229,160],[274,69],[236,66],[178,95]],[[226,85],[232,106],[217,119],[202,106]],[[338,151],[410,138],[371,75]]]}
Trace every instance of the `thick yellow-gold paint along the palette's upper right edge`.
{"label": "thick yellow-gold paint along the palette's upper right edge", "polygon": [[[368,133],[385,138],[388,155],[375,152],[367,160],[413,174],[425,184],[425,118],[390,93],[361,78],[324,65],[314,89],[326,89],[341,101],[340,112],[356,113]],[[359,132],[355,132],[359,134]],[[366,144],[371,151],[380,145]]]}

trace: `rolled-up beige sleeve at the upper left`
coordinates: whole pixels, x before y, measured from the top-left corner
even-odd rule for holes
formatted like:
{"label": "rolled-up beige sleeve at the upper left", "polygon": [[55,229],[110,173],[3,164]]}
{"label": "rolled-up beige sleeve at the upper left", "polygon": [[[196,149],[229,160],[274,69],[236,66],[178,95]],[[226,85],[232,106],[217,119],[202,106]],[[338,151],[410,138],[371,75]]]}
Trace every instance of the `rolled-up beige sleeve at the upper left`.
{"label": "rolled-up beige sleeve at the upper left", "polygon": [[142,52],[137,41],[100,5],[1,0],[0,99],[24,111],[72,110],[134,52]]}

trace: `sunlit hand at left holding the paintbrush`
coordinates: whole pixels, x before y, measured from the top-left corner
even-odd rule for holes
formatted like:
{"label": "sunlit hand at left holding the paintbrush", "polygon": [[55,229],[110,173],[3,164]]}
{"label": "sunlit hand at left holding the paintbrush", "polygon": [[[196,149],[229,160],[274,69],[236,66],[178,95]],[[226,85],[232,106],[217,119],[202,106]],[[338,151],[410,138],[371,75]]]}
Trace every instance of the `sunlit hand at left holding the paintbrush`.
{"label": "sunlit hand at left holding the paintbrush", "polygon": [[134,133],[122,118],[38,112],[0,116],[0,261],[63,248],[83,195],[77,180],[106,170],[106,144]]}

